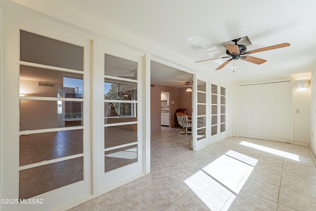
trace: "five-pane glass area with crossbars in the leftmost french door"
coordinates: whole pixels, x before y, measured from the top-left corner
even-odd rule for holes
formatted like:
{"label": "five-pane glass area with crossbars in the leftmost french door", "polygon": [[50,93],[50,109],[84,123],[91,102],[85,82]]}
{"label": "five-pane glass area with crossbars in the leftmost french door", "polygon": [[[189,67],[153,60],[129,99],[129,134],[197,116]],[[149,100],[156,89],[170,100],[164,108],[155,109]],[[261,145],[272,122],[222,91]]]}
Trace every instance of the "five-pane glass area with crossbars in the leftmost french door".
{"label": "five-pane glass area with crossbars in the leftmost french door", "polygon": [[20,30],[19,199],[84,178],[83,59],[83,46]]}

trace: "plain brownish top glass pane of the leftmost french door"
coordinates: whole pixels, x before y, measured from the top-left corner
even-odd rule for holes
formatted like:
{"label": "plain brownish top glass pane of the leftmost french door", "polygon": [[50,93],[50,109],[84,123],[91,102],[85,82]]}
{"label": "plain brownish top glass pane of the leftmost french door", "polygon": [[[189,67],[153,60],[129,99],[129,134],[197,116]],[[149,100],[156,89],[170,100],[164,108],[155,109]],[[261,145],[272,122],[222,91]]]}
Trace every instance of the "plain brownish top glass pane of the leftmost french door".
{"label": "plain brownish top glass pane of the leftmost french door", "polygon": [[20,60],[83,71],[83,47],[20,30]]}

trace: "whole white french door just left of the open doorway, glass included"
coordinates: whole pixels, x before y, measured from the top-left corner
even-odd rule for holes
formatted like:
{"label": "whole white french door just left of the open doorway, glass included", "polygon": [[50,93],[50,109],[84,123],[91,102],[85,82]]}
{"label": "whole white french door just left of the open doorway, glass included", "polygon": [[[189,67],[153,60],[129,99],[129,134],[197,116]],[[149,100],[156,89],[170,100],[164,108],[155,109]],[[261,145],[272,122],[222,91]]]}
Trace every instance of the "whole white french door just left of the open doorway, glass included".
{"label": "whole white french door just left of the open doorway, glass included", "polygon": [[143,175],[143,56],[102,42],[94,72],[98,180],[106,192]]}

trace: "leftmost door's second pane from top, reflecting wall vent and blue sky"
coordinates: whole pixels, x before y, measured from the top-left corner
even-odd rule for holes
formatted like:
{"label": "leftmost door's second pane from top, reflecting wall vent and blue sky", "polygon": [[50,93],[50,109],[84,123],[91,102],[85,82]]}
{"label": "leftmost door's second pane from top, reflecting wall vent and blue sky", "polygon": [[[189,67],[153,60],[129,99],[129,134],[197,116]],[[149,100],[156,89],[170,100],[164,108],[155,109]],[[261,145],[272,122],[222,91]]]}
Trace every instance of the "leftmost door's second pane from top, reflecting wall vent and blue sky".
{"label": "leftmost door's second pane from top, reflecting wall vent and blue sky", "polygon": [[82,74],[21,65],[20,96],[82,98],[82,77]]}

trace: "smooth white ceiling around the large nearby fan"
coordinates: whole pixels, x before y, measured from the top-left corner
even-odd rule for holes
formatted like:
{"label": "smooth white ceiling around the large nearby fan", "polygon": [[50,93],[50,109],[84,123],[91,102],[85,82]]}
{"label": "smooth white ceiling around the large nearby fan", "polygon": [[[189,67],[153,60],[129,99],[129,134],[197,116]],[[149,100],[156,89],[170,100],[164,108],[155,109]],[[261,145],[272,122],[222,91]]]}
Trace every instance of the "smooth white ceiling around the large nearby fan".
{"label": "smooth white ceiling around the large nearby fan", "polygon": [[[40,1],[28,1],[40,11]],[[46,0],[49,4],[51,10],[80,13],[232,81],[288,78],[316,66],[315,0]],[[221,43],[244,36],[252,43],[248,50],[283,42],[291,46],[251,54],[267,60],[261,65],[239,59],[215,71],[227,59],[194,63],[226,56]]]}

